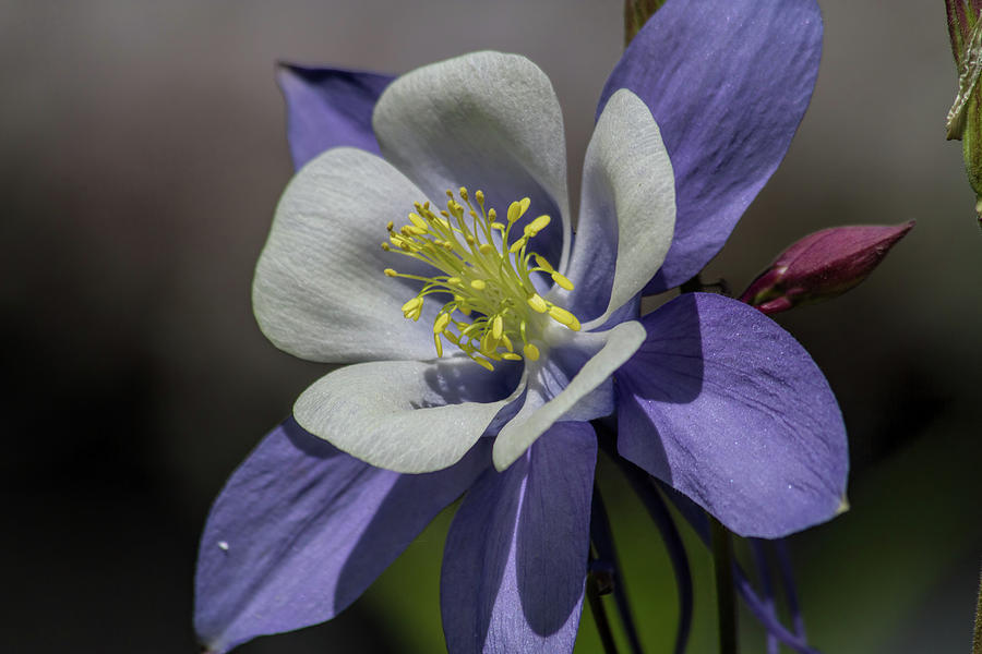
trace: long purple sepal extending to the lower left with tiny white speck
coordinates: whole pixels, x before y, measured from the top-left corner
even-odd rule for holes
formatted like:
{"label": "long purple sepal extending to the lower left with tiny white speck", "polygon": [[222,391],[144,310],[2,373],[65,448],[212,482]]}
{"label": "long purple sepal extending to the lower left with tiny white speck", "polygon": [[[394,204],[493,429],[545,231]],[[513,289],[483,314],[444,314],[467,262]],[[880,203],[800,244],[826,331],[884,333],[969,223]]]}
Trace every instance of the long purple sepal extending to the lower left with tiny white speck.
{"label": "long purple sepal extending to the lower left with tiny white speck", "polygon": [[323,622],[354,602],[490,467],[482,439],[453,468],[373,468],[287,420],[232,473],[197,558],[194,628],[219,654]]}

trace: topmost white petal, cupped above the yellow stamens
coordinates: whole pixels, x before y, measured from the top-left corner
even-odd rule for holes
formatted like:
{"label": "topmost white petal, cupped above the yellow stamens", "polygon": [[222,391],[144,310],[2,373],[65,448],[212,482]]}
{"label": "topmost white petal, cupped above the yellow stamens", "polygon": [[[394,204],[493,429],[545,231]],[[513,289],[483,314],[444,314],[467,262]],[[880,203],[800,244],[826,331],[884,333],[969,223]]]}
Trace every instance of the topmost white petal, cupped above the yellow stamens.
{"label": "topmost white petal, cupped above the yellow stamens", "polygon": [[503,217],[508,204],[527,196],[528,219],[561,219],[534,243],[553,265],[565,265],[563,117],[536,64],[517,55],[475,52],[415,70],[385,89],[372,124],[383,156],[431,197],[481,189]]}

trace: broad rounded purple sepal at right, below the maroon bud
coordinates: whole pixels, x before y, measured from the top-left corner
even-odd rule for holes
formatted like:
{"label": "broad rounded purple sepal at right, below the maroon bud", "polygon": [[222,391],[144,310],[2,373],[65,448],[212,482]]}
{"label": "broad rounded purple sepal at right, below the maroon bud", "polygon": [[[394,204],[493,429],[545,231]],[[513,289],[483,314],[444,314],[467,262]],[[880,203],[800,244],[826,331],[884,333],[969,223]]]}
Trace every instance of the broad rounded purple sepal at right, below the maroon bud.
{"label": "broad rounded purple sepal at right, below the maroon bud", "polygon": [[782,536],[842,510],[842,416],[791,335],[709,293],[642,323],[647,340],[616,374],[624,458],[743,536]]}

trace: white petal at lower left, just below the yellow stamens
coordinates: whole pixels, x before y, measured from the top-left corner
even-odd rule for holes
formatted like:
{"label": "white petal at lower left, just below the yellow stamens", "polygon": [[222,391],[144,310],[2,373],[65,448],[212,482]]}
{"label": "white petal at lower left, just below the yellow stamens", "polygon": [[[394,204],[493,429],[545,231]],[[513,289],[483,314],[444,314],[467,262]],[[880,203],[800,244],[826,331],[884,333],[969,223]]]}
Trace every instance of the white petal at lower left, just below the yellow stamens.
{"label": "white petal at lower left, just below the yellow stamens", "polygon": [[[507,397],[515,375],[467,358],[349,365],[297,399],[308,432],[378,468],[431,472],[453,465],[477,443]],[[516,397],[524,387],[519,384]]]}

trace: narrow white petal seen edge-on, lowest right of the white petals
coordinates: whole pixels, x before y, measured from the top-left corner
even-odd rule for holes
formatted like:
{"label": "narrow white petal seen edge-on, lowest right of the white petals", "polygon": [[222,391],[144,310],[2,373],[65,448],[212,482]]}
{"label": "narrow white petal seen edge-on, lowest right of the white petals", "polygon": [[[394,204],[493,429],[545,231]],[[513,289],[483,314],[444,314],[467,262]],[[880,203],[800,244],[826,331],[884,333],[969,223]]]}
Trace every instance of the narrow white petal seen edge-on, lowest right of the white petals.
{"label": "narrow white petal seen edge-on, lowest right of the white petals", "polygon": [[[553,423],[570,415],[578,420],[584,416],[578,411],[580,400],[590,401],[590,393],[624,364],[645,340],[645,328],[640,323],[621,323],[613,329],[585,337],[603,337],[603,347],[579,370],[570,384],[554,398],[538,405],[527,402],[513,417],[494,441],[494,467],[504,470],[536,441]],[[532,395],[529,376],[529,395]]]}

